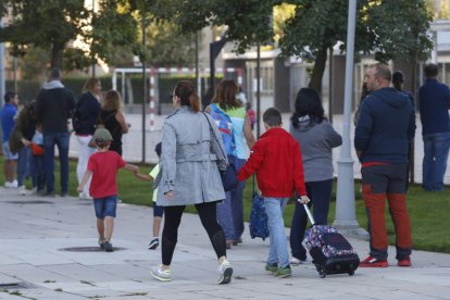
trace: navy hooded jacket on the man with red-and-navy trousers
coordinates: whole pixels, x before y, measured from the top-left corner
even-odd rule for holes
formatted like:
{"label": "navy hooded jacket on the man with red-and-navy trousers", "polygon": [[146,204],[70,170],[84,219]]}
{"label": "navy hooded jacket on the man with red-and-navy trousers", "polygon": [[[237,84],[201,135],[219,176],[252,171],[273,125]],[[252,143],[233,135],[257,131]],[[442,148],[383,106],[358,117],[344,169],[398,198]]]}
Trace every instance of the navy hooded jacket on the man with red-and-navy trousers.
{"label": "navy hooded jacket on the man with red-and-navy trousers", "polygon": [[380,88],[361,105],[354,148],[362,152],[361,163],[408,163],[414,133],[415,113],[409,98],[395,88]]}

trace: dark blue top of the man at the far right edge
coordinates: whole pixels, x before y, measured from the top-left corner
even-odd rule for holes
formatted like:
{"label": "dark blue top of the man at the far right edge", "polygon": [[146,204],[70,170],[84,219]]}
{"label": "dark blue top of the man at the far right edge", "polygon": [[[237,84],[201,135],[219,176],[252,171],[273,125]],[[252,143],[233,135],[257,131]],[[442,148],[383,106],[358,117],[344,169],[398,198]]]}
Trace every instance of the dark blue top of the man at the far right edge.
{"label": "dark blue top of the man at the far right edge", "polygon": [[450,89],[430,78],[418,89],[422,135],[450,132]]}

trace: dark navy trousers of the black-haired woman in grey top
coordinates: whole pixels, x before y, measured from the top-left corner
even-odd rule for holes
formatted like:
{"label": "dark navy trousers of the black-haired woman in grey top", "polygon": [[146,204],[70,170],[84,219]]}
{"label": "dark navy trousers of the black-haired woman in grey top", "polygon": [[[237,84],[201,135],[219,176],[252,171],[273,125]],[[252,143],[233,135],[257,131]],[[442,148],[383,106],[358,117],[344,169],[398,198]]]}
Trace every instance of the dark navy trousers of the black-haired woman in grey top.
{"label": "dark navy trousers of the black-haired woman in grey top", "polygon": [[[313,205],[313,216],[316,224],[327,225],[329,201],[332,199],[333,179],[323,182],[305,183],[308,197],[311,202],[308,207]],[[296,201],[296,210],[290,225],[290,251],[293,258],[304,261],[307,259],[307,249],[304,249],[303,241],[304,230],[307,229],[308,215],[303,208]]]}

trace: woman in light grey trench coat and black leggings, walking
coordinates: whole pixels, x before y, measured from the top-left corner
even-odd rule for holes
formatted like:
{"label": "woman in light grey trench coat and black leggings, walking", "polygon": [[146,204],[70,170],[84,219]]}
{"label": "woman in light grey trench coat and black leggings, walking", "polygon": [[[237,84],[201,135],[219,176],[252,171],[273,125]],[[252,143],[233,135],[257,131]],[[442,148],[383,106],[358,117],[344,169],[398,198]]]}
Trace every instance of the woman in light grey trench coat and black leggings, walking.
{"label": "woman in light grey trench coat and black leggings, walking", "polygon": [[[225,170],[222,138],[212,118],[200,112],[200,98],[192,83],[178,82],[173,91],[173,112],[162,129],[158,205],[164,207],[162,265],[150,271],[159,280],[171,280],[171,262],[183,211],[195,204],[218,260],[218,284],[232,280],[225,235],[216,220],[216,203],[225,199],[218,168]],[[215,135],[215,136],[213,136]],[[222,148],[222,150],[220,149]],[[218,167],[217,167],[218,166]]]}

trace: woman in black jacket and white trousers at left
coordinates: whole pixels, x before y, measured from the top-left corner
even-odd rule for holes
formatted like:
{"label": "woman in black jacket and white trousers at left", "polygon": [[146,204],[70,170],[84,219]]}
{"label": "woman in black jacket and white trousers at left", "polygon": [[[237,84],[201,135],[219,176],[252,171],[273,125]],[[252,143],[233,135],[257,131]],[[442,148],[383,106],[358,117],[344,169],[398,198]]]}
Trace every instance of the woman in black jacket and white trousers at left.
{"label": "woman in black jacket and white trousers at left", "polygon": [[[97,117],[100,113],[101,83],[97,78],[89,78],[85,84],[85,93],[79,98],[76,104],[73,127],[76,139],[79,142],[78,163],[76,165],[76,175],[78,184],[82,183],[83,175],[86,172],[89,157],[96,152],[96,148],[89,147],[96,130]],[[90,180],[85,185],[85,189],[79,192],[79,199],[91,199],[89,195]]]}

